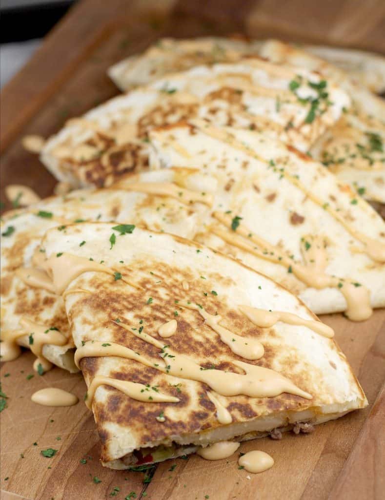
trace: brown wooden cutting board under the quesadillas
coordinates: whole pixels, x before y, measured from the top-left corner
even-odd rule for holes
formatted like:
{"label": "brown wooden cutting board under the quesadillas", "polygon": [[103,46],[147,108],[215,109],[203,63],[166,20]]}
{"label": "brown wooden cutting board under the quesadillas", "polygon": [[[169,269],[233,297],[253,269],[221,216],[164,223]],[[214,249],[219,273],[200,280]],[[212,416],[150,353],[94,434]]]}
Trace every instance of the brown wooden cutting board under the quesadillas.
{"label": "brown wooden cutting board under the quesadillas", "polygon": [[[42,196],[52,193],[54,179],[36,157],[22,150],[21,137],[28,133],[47,136],[69,117],[117,94],[105,74],[110,64],[143,50],[160,36],[235,31],[257,37],[345,44],[385,53],[385,3],[382,0],[79,2],[1,92],[2,186],[23,183]],[[4,200],[3,195],[1,199]],[[0,380],[8,397],[7,407],[0,413],[1,498],[383,498],[385,311],[376,311],[362,323],[350,322],[339,314],[322,319],[335,329],[370,406],[320,425],[313,434],[290,433],[281,441],[263,438],[242,444],[242,452],[258,447],[275,459],[272,469],[256,475],[238,469],[238,453],[217,462],[207,462],[195,455],[187,460],[169,460],[155,467],[149,474],[152,477],[143,472],[103,468],[98,461],[93,417],[81,401],[86,390],[81,375],[54,368],[43,376],[34,374],[30,378],[28,375],[33,373],[30,353],[3,363]],[[45,386],[70,390],[81,402],[70,408],[35,405],[30,395]],[[49,447],[57,452],[46,458],[40,451]]]}

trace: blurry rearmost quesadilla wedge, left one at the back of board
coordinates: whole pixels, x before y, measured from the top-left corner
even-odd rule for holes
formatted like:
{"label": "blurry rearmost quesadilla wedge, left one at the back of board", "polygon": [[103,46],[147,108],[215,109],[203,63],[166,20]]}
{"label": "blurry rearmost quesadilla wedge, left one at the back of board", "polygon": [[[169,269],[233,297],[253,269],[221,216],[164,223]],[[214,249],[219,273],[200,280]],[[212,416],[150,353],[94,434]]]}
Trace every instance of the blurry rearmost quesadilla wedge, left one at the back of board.
{"label": "blurry rearmost quesadilla wedge, left one at the back of board", "polygon": [[258,56],[260,45],[257,40],[215,36],[184,40],[161,38],[142,54],[119,61],[107,72],[115,85],[125,92],[194,66],[236,62],[246,55]]}

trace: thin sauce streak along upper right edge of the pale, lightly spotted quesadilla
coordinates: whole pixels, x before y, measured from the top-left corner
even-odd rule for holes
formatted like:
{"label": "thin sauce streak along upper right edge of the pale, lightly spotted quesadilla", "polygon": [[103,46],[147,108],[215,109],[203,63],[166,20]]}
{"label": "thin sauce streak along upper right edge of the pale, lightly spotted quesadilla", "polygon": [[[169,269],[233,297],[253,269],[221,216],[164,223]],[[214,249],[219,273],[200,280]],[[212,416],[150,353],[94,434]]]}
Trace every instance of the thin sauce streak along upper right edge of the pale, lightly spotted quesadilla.
{"label": "thin sauce streak along upper right edge of the pale, lightly spotted quesadilla", "polygon": [[[255,153],[250,147],[245,146],[244,144],[242,144],[242,142],[239,142],[236,139],[234,139],[234,137],[231,137],[226,131],[220,131],[213,127],[207,126],[207,124],[206,126],[204,124],[202,126],[202,123],[200,123],[198,120],[196,120],[196,123],[199,129],[203,133],[207,133],[207,135],[224,140],[227,143],[231,144],[236,149],[242,150],[247,154],[249,154],[250,156],[257,158],[260,161],[263,161],[264,163],[268,163],[268,161],[265,158],[262,158],[257,153]],[[314,201],[316,204],[327,210],[336,220],[338,220],[345,227],[345,229],[353,237],[361,241],[364,244],[363,251],[367,253],[369,257],[379,262],[385,262],[385,243],[378,241],[374,238],[371,238],[366,234],[355,229],[349,222],[345,220],[345,218],[338,211],[336,211],[328,204],[325,205],[325,200],[319,198],[312,191],[307,189],[298,178],[288,174],[285,171],[282,171],[281,175],[284,176],[287,180],[289,180],[293,184],[295,184],[299,189],[301,189],[312,201]]]}

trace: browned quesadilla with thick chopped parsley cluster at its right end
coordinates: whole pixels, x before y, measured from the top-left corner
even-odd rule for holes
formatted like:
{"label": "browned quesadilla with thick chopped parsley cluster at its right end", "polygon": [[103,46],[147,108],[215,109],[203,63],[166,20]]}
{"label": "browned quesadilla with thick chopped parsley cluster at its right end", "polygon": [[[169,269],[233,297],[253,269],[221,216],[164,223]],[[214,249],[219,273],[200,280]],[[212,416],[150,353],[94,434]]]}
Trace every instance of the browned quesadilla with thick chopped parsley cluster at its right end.
{"label": "browned quesadilla with thick chopped parsley cluster at its right end", "polygon": [[69,120],[47,140],[41,160],[61,181],[108,186],[148,168],[151,128],[194,117],[250,128],[307,151],[349,105],[346,92],[301,68],[261,59],[198,66]]}

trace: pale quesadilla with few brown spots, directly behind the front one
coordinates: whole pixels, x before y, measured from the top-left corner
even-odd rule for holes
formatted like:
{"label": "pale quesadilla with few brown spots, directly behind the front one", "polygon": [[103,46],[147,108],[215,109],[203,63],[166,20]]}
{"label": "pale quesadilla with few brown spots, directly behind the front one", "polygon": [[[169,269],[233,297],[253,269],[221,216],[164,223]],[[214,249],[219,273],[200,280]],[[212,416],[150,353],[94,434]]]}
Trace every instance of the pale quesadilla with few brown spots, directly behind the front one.
{"label": "pale quesadilla with few brown spots, directly behind the front one", "polygon": [[385,222],[320,163],[266,135],[197,121],[150,139],[154,166],[217,179],[199,241],[272,277],[317,314],[362,320],[385,305]]}

